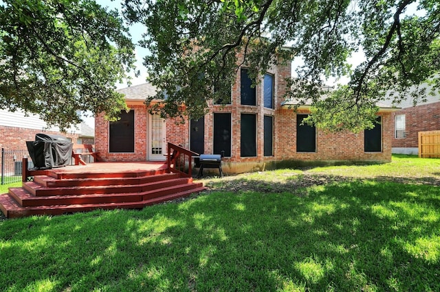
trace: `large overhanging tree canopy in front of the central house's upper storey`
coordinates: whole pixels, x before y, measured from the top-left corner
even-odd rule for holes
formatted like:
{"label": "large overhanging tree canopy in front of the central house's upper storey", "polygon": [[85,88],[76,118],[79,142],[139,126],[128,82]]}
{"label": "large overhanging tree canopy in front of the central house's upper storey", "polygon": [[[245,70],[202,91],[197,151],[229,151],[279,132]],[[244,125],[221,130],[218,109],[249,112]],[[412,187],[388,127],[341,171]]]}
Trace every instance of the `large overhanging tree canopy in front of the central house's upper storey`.
{"label": "large overhanging tree canopy in front of the central house's upper storey", "polygon": [[[439,6],[436,0],[126,0],[124,10],[129,21],[146,26],[142,45],[151,54],[144,64],[162,88],[155,98],[166,99],[164,116],[201,116],[210,99],[230,92],[238,66],[250,66],[255,77],[278,62],[277,54],[304,62],[285,98],[311,99],[309,122],[359,131],[373,126],[375,104],[386,95],[418,101],[428,94],[426,82],[438,90]],[[237,51],[245,52],[243,62]],[[352,68],[356,51],[365,60]],[[343,76],[349,83],[322,101],[327,78]]]}

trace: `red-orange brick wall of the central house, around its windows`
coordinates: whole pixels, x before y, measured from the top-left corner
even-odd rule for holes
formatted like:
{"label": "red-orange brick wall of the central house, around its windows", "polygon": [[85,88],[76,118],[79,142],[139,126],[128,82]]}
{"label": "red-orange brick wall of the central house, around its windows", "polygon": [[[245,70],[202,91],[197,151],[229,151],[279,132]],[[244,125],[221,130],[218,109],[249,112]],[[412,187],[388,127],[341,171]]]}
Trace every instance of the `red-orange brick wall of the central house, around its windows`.
{"label": "red-orange brick wall of the central house, around its windows", "polygon": [[[317,131],[316,152],[296,152],[296,112],[281,109],[286,89],[286,78],[291,76],[291,65],[278,64],[272,67],[269,73],[274,74],[275,81],[275,109],[263,106],[263,84],[256,85],[256,106],[242,106],[240,100],[240,72],[237,72],[236,82],[232,86],[232,103],[226,106],[210,104],[210,111],[205,116],[205,153],[213,151],[213,114],[228,112],[232,116],[232,149],[231,157],[225,158],[225,169],[231,172],[240,172],[245,169],[256,169],[256,165],[264,162],[282,160],[307,160],[307,161],[335,161],[335,160],[361,160],[361,161],[391,161],[391,140],[393,137],[393,118],[391,113],[380,113],[382,116],[382,151],[377,153],[364,152],[364,132],[353,134],[340,132],[329,134]],[[134,154],[108,154],[108,125],[107,121],[99,115],[96,119],[95,143],[100,156],[106,160],[146,160],[146,117],[148,112],[144,105],[130,106],[135,109],[136,143]],[[256,114],[257,123],[257,156],[241,157],[241,114]],[[307,111],[305,113],[308,113]],[[263,127],[264,116],[274,117],[274,156],[263,156]],[[180,123],[176,120],[166,121],[166,139],[170,143],[181,145],[189,149],[189,122]],[[236,167],[241,164],[245,167]],[[235,171],[234,171],[235,169]]]}

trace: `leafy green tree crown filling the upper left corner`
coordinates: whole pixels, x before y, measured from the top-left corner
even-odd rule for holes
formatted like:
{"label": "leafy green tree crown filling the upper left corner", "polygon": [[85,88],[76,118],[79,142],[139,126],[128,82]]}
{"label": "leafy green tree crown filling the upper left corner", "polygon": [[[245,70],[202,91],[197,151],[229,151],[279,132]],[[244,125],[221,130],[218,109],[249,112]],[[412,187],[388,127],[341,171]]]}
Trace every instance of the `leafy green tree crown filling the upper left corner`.
{"label": "leafy green tree crown filling the upper left corner", "polygon": [[134,45],[117,11],[89,0],[0,2],[0,106],[61,128],[78,110],[115,117]]}

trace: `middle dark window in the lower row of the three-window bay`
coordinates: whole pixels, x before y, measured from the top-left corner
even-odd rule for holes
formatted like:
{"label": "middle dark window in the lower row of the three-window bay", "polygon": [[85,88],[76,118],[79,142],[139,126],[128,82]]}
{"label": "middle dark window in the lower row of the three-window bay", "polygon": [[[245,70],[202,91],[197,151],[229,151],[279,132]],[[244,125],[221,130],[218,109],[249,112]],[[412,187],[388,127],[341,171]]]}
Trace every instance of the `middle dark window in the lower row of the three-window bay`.
{"label": "middle dark window in the lower row of the three-window bay", "polygon": [[256,115],[241,114],[241,157],[256,156]]}

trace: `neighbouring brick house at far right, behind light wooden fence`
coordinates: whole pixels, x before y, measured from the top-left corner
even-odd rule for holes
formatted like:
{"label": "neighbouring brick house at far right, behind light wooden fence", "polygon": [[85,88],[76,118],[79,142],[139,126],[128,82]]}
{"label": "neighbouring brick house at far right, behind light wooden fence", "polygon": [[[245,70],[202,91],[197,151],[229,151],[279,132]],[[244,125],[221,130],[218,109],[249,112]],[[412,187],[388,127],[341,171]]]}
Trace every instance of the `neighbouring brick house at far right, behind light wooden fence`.
{"label": "neighbouring brick house at far right, behind light wooden fence", "polygon": [[393,113],[393,153],[419,154],[419,132],[440,130],[440,97],[428,95],[426,101],[412,104],[407,99]]}

